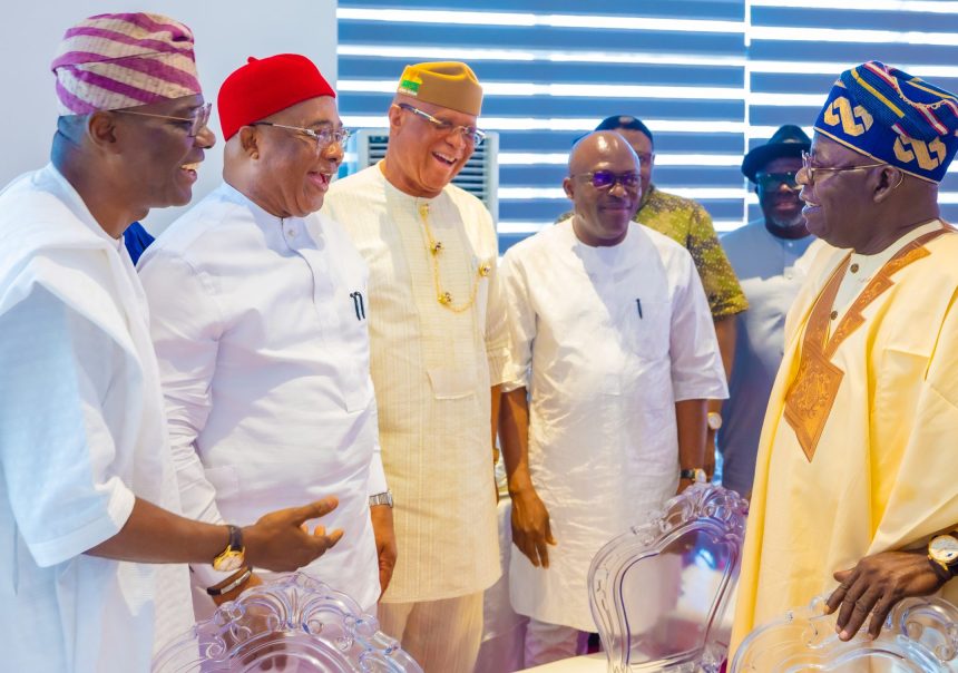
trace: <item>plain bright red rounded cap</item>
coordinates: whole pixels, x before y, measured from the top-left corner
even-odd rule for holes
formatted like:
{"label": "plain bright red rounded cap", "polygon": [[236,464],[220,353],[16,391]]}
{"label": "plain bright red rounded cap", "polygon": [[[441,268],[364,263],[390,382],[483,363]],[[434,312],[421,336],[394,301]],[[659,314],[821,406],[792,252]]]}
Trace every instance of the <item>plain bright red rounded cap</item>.
{"label": "plain bright red rounded cap", "polygon": [[228,140],[242,126],[320,96],[335,98],[336,92],[305,56],[251,56],[219,87],[216,105],[223,138]]}

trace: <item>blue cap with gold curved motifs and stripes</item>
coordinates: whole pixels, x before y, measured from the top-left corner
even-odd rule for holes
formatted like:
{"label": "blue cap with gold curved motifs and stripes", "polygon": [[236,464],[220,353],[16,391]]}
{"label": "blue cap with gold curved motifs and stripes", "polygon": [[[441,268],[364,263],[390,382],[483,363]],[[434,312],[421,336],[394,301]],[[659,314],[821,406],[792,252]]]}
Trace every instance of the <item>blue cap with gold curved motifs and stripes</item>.
{"label": "blue cap with gold curved motifs and stripes", "polygon": [[841,74],[815,130],[938,183],[958,150],[958,98],[898,68],[868,61]]}

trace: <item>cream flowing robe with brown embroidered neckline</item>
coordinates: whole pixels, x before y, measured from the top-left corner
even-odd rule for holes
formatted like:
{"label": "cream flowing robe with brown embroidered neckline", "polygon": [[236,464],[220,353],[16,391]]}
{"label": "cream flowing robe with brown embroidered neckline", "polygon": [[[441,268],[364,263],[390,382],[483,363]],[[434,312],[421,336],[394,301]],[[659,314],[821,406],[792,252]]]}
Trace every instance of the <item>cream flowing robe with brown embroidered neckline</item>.
{"label": "cream flowing robe with brown embroidered neckline", "polygon": [[[958,521],[958,234],[929,237],[938,226],[899,241],[892,252],[900,254],[857,292],[835,292],[853,282],[848,274],[859,273],[848,251],[822,247],[812,262],[786,321],[785,357],[762,430],[734,644],[832,591],[834,572],[863,556],[920,547]],[[840,266],[845,277],[827,287]],[[838,299],[817,319],[814,305],[825,291]],[[842,305],[843,296],[856,295]],[[837,383],[827,383],[834,381],[827,375],[809,386],[814,399],[805,403],[795,379],[817,320],[831,323],[824,325],[830,339],[839,335],[825,351],[841,375]],[[813,417],[832,397],[813,440],[820,423]],[[793,422],[810,429],[802,441]],[[958,585],[946,585],[945,595],[958,599]]]}

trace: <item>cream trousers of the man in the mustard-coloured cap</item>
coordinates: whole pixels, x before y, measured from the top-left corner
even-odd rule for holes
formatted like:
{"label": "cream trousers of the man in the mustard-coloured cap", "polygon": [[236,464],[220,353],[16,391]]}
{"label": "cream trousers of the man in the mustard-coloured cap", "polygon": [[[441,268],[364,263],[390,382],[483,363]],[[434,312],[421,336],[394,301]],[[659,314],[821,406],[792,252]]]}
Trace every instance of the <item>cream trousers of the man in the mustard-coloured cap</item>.
{"label": "cream trousers of the man in the mustard-coloured cap", "polygon": [[379,624],[426,673],[472,673],[482,641],[482,592],[422,603],[380,603]]}

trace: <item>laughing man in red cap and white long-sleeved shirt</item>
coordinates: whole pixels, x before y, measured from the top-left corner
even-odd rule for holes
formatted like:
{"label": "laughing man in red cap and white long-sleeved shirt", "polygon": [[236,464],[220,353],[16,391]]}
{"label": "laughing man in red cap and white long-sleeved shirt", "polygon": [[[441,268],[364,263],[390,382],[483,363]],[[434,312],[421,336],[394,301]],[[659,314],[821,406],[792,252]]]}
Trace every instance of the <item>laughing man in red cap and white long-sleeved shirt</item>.
{"label": "laughing man in red cap and white long-sleeved shirt", "polygon": [[[369,371],[368,271],[316,213],[349,131],[310,59],[251,58],[223,84],[224,183],[144,254],[140,280],[183,507],[246,523],[335,495],[343,539],[304,569],[372,609],[395,560]],[[194,567],[197,615],[254,575]]]}

